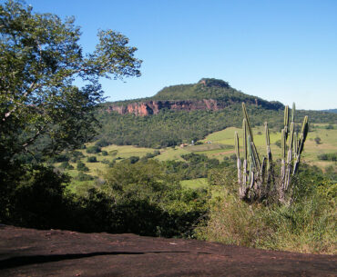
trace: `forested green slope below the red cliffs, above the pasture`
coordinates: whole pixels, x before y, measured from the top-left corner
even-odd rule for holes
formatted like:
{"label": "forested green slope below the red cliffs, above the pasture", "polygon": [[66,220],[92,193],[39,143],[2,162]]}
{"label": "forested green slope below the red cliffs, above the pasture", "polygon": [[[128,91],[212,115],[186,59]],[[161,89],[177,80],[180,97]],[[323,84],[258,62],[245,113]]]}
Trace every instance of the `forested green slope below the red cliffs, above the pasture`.
{"label": "forested green slope below the red cliffs, above the pasture", "polygon": [[[252,126],[261,125],[268,118],[271,128],[281,130],[282,111],[268,110],[248,105]],[[337,123],[336,114],[315,111],[298,111],[298,118],[308,115],[311,123]],[[166,147],[179,143],[190,143],[230,126],[241,126],[241,104],[230,104],[220,111],[170,111],[159,114],[136,116],[134,114],[107,114],[104,108],[97,115],[102,128],[97,139],[104,138],[117,145],[143,147]],[[298,122],[297,124],[301,124]]]}

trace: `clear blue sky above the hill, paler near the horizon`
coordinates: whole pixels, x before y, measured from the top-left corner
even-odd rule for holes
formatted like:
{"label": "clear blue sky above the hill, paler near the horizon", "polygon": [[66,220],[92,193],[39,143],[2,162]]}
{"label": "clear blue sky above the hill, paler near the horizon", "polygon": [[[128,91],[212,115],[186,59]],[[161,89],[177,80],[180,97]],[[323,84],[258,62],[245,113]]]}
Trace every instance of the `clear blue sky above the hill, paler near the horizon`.
{"label": "clear blue sky above the hill, paler near the horizon", "polygon": [[109,101],[218,78],[243,93],[337,108],[337,0],[26,0],[39,13],[74,15],[92,51],[97,29],[127,35],[142,76],[102,80]]}

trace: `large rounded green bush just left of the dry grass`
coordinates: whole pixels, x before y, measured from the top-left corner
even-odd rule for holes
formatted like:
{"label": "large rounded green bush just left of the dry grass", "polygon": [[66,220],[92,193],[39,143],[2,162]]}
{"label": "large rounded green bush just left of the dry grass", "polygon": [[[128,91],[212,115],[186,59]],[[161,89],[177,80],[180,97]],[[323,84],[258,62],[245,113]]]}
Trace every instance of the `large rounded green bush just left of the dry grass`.
{"label": "large rounded green bush just left of the dry grass", "polygon": [[[104,192],[128,213],[123,232],[172,236],[189,232],[205,213],[205,193],[183,190],[161,163],[116,163],[105,176]],[[126,228],[121,226],[121,228]]]}

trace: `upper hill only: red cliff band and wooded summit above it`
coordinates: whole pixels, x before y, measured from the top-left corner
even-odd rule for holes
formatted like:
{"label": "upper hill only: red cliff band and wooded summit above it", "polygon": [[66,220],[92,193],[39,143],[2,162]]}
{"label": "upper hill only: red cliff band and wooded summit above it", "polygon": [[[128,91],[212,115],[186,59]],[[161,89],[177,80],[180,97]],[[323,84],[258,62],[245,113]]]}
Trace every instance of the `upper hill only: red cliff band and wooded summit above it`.
{"label": "upper hill only: red cliff band and wooded summit above it", "polygon": [[163,88],[152,97],[107,104],[107,111],[118,114],[150,115],[160,110],[218,111],[225,107],[245,102],[269,110],[280,110],[280,102],[268,102],[260,97],[243,94],[225,81],[203,78],[197,84],[179,84]]}

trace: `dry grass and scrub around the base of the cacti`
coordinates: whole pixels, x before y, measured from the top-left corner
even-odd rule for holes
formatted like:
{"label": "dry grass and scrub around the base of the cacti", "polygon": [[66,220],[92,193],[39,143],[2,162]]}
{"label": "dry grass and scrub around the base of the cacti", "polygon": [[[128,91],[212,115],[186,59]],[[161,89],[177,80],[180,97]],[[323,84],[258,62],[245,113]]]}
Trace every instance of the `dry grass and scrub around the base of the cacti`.
{"label": "dry grass and scrub around the base of the cacti", "polygon": [[336,253],[336,183],[302,165],[294,202],[266,206],[240,201],[235,177],[233,171],[213,173],[209,221],[197,228],[198,239],[271,250]]}

